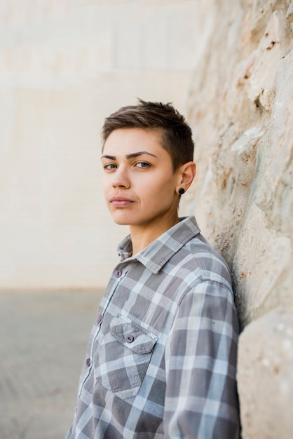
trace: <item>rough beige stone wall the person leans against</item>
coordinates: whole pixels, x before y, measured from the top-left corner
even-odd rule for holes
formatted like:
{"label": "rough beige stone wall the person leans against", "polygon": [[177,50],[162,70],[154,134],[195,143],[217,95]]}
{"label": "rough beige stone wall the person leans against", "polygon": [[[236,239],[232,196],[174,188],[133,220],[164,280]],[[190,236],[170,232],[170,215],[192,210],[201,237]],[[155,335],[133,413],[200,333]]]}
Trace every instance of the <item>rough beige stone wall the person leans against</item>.
{"label": "rough beige stone wall the person leans against", "polygon": [[289,0],[210,1],[189,95],[184,208],[232,269],[243,439],[293,437],[292,21]]}

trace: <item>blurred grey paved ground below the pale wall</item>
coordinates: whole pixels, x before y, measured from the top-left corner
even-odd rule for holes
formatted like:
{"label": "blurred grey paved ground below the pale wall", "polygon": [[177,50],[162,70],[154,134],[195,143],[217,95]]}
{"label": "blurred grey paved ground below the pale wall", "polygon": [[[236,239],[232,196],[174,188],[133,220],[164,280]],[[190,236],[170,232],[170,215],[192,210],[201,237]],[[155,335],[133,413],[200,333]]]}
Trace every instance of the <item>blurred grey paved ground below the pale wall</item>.
{"label": "blurred grey paved ground below the pale wall", "polygon": [[0,439],[64,439],[100,299],[0,293]]}

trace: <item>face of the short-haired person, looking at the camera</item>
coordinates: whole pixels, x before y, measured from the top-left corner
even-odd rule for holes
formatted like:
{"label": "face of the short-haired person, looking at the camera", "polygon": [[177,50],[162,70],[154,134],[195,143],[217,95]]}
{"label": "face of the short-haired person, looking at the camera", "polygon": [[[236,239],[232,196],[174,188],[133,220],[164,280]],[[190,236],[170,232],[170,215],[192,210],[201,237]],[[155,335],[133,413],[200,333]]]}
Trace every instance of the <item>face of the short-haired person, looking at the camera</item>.
{"label": "face of the short-haired person, looking at the camera", "polygon": [[162,222],[178,222],[180,170],[173,171],[158,131],[114,130],[104,144],[102,166],[104,197],[117,224],[155,230]]}

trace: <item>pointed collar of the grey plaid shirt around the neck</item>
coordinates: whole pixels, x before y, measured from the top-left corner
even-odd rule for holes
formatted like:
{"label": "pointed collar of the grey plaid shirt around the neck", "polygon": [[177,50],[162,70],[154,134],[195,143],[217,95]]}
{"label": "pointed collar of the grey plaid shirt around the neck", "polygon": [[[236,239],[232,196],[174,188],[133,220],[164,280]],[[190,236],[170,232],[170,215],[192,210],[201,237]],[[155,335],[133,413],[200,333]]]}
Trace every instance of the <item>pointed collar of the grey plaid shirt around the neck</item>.
{"label": "pointed collar of the grey plaid shirt around the neck", "polygon": [[130,235],[126,236],[118,245],[118,255],[121,257],[122,262],[138,260],[153,273],[158,273],[172,255],[199,233],[200,229],[195,217],[180,218],[178,224],[165,231],[156,241],[150,243],[135,256],[131,256],[132,243]]}

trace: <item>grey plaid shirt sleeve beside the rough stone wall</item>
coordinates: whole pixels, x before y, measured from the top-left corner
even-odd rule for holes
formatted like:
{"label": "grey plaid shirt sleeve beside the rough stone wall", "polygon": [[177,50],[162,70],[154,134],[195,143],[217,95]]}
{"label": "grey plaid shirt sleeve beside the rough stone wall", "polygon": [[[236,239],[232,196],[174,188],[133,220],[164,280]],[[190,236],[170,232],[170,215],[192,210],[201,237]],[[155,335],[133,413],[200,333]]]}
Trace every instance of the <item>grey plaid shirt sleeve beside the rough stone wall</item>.
{"label": "grey plaid shirt sleeve beside the rough stone wall", "polygon": [[167,439],[239,438],[233,294],[204,281],[179,305],[165,351]]}

